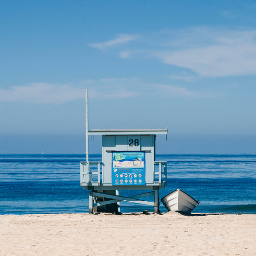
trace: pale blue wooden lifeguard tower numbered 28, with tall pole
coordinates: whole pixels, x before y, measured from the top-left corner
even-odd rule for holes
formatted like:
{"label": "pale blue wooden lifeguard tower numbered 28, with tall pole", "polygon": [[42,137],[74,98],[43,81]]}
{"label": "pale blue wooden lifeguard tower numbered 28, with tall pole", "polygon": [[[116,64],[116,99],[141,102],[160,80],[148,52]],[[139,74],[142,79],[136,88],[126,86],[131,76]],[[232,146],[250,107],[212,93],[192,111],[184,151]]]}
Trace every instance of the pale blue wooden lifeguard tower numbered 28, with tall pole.
{"label": "pale blue wooden lifeguard tower numbered 28, with tall pole", "polygon": [[[129,201],[154,207],[159,213],[159,189],[167,182],[167,163],[155,161],[157,130],[91,130],[88,131],[88,90],[85,91],[86,161],[80,162],[81,186],[89,191],[89,213],[120,212],[119,202]],[[102,161],[88,160],[88,135],[102,136]],[[151,190],[129,197],[120,190]],[[153,196],[154,200],[140,198]]]}

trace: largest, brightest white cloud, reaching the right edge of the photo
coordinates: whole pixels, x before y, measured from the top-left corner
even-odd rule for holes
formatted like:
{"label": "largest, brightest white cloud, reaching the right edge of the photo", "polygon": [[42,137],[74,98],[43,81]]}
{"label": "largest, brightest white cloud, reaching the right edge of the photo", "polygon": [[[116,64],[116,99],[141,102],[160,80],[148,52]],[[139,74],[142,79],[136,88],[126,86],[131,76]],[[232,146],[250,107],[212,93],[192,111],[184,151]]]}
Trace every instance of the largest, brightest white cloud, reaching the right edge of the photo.
{"label": "largest, brightest white cloud, reaching the right edge of the photo", "polygon": [[256,74],[256,44],[225,44],[199,49],[160,51],[163,63],[189,68],[201,76]]}

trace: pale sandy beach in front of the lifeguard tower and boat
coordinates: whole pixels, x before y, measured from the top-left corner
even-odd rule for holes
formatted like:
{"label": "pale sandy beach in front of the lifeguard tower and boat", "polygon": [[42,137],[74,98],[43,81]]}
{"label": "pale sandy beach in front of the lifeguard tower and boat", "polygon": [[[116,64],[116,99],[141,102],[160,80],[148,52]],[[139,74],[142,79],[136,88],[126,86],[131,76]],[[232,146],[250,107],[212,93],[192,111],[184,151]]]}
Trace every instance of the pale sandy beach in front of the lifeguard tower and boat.
{"label": "pale sandy beach in front of the lifeguard tower and boat", "polygon": [[0,215],[0,255],[256,255],[256,215]]}

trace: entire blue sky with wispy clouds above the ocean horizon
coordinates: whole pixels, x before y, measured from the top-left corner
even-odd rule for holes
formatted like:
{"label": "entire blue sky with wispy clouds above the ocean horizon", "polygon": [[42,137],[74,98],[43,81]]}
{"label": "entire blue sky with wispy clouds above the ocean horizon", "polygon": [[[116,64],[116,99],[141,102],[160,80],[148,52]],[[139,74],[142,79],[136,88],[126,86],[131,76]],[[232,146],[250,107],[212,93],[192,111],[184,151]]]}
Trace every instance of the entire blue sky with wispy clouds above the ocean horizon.
{"label": "entire blue sky with wispy clouds above the ocean horizon", "polygon": [[256,153],[255,13],[255,1],[0,1],[0,153],[83,153],[85,88],[89,129],[167,128],[166,153]]}

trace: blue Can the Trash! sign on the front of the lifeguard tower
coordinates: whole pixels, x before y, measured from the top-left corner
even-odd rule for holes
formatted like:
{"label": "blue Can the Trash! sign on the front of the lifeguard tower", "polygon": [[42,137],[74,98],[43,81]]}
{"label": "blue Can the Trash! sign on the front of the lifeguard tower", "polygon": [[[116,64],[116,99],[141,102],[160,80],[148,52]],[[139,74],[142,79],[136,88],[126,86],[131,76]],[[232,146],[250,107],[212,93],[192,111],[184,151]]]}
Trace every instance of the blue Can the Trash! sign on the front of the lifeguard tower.
{"label": "blue Can the Trash! sign on the front of the lifeguard tower", "polygon": [[145,152],[112,152],[112,185],[145,184]]}

